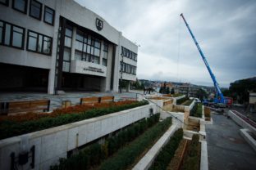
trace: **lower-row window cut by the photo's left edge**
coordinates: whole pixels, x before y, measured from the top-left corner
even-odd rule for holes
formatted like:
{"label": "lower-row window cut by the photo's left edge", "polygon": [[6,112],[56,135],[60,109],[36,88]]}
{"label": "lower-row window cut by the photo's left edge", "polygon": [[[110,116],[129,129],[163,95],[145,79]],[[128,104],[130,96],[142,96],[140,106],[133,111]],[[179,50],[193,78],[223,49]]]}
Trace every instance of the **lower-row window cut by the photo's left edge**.
{"label": "lower-row window cut by the photo's left edge", "polygon": [[0,44],[23,49],[25,29],[0,20]]}

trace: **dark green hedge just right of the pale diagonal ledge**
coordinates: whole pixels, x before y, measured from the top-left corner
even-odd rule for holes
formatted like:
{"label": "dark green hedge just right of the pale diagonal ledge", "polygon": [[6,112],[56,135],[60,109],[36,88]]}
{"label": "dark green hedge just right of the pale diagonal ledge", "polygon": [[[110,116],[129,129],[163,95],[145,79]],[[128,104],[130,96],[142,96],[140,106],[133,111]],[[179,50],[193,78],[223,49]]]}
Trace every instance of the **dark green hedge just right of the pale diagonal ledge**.
{"label": "dark green hedge just right of the pale diagonal ledge", "polygon": [[183,129],[179,128],[173,134],[173,136],[171,136],[171,139],[168,141],[167,145],[162,148],[149,170],[167,169],[167,166],[171,162],[171,159],[173,158],[182,138]]}

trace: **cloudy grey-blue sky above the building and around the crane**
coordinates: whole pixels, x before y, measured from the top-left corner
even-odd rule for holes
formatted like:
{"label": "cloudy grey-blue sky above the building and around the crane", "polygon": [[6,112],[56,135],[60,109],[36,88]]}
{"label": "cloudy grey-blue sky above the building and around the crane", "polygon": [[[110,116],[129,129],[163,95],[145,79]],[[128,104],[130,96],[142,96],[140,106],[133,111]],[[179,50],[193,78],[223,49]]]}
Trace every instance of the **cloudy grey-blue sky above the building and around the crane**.
{"label": "cloudy grey-blue sky above the building and around the crane", "polygon": [[181,13],[221,87],[256,76],[254,0],[75,1],[140,45],[137,69],[140,79],[213,86]]}

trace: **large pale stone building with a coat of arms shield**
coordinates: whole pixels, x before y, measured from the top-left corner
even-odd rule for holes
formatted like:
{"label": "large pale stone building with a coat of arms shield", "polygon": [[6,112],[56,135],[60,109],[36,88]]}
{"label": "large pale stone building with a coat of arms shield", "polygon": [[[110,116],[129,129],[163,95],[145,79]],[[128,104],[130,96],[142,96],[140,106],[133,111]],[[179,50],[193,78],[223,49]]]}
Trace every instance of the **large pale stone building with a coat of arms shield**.
{"label": "large pale stone building with a coat of arms shield", "polygon": [[138,46],[75,1],[3,0],[0,12],[2,91],[117,92],[136,79]]}

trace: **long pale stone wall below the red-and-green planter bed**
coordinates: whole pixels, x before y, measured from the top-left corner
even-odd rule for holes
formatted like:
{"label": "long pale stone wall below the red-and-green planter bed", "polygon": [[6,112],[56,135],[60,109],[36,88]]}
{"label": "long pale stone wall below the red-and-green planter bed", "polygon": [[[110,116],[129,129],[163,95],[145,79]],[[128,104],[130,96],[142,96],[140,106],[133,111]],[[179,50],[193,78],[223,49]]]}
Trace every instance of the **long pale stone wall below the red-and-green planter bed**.
{"label": "long pale stone wall below the red-and-green planter bed", "polygon": [[[0,141],[0,169],[11,168],[11,152],[18,155],[21,151],[30,150],[33,145],[35,146],[34,169],[48,169],[50,165],[57,163],[59,158],[66,158],[67,151],[115,132],[139,119],[149,117],[150,108],[153,108],[155,114],[156,105],[150,104],[4,139]],[[31,159],[29,163],[23,167],[18,166],[18,168],[28,169],[30,162]]]}

